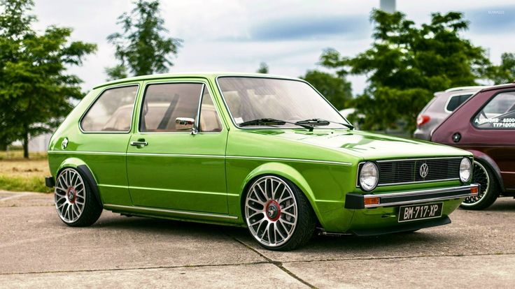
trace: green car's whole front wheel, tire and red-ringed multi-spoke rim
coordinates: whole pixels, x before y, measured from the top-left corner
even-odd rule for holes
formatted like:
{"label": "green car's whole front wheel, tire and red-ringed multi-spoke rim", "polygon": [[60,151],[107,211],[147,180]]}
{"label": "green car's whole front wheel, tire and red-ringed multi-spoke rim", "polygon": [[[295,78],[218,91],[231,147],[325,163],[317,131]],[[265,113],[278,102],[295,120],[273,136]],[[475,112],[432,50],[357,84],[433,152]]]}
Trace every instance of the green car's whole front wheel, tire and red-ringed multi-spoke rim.
{"label": "green car's whole front wheel, tire and red-ringed multi-spoke rim", "polygon": [[304,193],[291,181],[267,175],[248,188],[244,203],[248,230],[261,246],[288,251],[311,239],[316,216]]}

